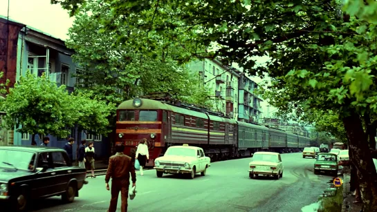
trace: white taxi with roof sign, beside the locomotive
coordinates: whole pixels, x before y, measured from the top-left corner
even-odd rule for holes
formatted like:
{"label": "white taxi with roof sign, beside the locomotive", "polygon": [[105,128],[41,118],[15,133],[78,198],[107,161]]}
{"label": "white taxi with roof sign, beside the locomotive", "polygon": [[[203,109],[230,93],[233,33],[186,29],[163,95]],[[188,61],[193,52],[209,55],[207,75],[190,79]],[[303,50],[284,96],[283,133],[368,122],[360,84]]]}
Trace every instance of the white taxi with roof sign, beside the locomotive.
{"label": "white taxi with roof sign, beside the locomotive", "polygon": [[163,177],[163,173],[190,173],[191,179],[194,179],[196,173],[204,176],[210,166],[211,159],[204,155],[203,148],[187,144],[170,146],[163,157],[154,161],[157,177]]}

